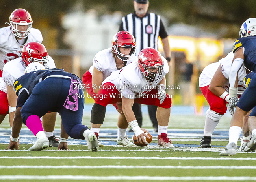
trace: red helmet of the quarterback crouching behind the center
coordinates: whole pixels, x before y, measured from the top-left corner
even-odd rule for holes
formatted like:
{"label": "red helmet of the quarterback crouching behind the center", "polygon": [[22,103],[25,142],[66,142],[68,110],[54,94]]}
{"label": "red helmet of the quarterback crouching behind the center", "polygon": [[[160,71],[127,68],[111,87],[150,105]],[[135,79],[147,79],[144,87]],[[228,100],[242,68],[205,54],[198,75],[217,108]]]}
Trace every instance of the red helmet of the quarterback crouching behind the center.
{"label": "red helmet of the quarterback crouching behind the center", "polygon": [[[131,48],[131,51],[128,55],[125,55],[120,52],[119,47]],[[117,32],[112,39],[112,50],[119,59],[127,61],[129,57],[134,56],[136,53],[134,36],[128,31]]]}

